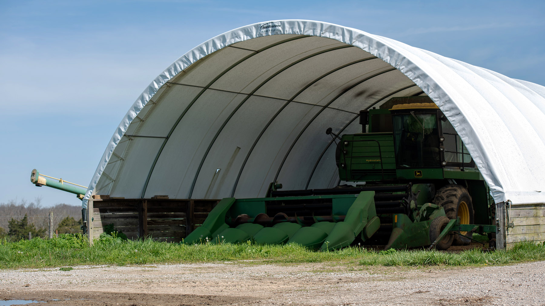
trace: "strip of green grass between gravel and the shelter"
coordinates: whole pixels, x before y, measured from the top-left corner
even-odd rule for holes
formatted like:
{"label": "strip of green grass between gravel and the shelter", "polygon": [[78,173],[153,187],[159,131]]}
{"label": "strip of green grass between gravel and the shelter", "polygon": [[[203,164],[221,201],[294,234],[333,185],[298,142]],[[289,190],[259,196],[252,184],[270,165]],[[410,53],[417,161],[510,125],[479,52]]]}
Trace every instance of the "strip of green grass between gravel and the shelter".
{"label": "strip of green grass between gravel and the shelter", "polygon": [[374,252],[347,247],[331,252],[315,252],[296,244],[281,246],[243,244],[197,244],[131,241],[103,235],[92,246],[82,235],[61,235],[43,240],[0,241],[0,268],[39,268],[76,265],[149,265],[190,262],[250,260],[276,263],[344,261],[353,265],[382,266],[466,266],[505,265],[514,262],[545,260],[545,246],[531,242],[517,244],[510,250],[482,252],[467,250],[444,253],[436,250],[388,250]]}

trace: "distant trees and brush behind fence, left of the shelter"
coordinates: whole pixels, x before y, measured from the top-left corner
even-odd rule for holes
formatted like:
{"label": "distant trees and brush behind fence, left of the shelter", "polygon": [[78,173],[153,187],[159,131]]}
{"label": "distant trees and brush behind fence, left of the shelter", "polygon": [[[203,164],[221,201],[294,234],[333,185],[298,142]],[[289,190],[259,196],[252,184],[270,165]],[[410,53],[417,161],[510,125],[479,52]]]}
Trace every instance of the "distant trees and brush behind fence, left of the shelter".
{"label": "distant trees and brush behind fence, left of the shelter", "polygon": [[53,234],[76,234],[80,227],[81,206],[57,204],[40,207],[40,199],[31,203],[22,200],[0,203],[0,238],[11,241],[49,236],[49,212],[53,212]]}

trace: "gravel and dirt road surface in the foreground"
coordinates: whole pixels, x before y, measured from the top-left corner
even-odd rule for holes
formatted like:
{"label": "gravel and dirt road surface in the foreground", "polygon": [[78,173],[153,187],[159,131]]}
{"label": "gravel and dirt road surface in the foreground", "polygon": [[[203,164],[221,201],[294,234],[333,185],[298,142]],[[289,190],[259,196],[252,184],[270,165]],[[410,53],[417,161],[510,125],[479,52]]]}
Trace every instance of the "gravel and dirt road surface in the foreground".
{"label": "gravel and dirt road surface in the foreground", "polygon": [[478,268],[225,262],[0,270],[0,301],[45,301],[31,304],[44,306],[542,306],[544,272],[545,261]]}

